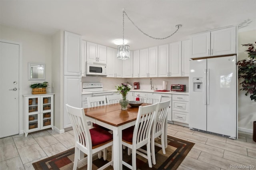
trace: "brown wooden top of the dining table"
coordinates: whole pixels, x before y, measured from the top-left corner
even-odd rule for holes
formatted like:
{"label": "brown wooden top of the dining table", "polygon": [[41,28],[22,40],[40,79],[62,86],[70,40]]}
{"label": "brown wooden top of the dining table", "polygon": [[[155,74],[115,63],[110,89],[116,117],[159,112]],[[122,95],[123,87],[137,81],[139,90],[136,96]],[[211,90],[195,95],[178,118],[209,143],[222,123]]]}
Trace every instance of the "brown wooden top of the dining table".
{"label": "brown wooden top of the dining table", "polygon": [[[151,105],[143,103],[141,106]],[[119,103],[85,108],[84,113],[86,116],[102,121],[109,125],[118,127],[126,123],[135,121],[138,115],[138,107],[127,106],[127,110],[122,111]]]}

